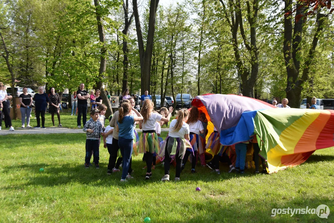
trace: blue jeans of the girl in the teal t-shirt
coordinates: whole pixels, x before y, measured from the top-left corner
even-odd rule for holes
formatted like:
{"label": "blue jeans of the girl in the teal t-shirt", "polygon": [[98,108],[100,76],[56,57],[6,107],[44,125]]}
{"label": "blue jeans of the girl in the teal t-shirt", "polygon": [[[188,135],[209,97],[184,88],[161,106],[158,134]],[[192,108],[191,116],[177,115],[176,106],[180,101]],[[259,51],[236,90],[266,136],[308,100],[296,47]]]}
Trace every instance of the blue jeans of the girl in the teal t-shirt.
{"label": "blue jeans of the girl in the teal t-shirt", "polygon": [[126,139],[123,137],[118,138],[118,146],[123,157],[123,170],[121,179],[126,179],[126,176],[129,171],[130,158],[133,150],[133,139]]}

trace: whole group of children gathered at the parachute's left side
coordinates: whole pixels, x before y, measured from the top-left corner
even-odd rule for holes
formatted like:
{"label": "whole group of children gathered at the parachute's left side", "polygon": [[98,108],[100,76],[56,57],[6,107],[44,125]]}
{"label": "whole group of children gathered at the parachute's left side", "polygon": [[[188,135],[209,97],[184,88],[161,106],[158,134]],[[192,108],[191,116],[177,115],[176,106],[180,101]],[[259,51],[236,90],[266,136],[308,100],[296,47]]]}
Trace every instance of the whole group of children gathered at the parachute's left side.
{"label": "whole group of children gathered at the parachute's left side", "polygon": [[[244,173],[245,156],[247,151],[246,143],[235,145],[236,160],[235,166],[227,154],[226,146],[219,143],[219,132],[214,132],[205,143],[208,121],[204,113],[200,113],[197,107],[189,111],[181,109],[177,118],[170,122],[169,132],[165,140],[160,138],[161,126],[169,122],[173,108],[169,110],[161,108],[159,112],[154,111],[153,102],[145,100],[140,113],[134,108],[135,100],[123,100],[121,107],[114,115],[109,117],[109,125],[104,127],[106,106],[100,105],[98,109],[91,110],[91,119],[86,123],[83,131],[87,132],[85,168],[90,167],[90,159],[93,155],[93,162],[99,168],[99,146],[103,136],[104,147],[110,154],[107,174],[111,175],[120,172],[122,165],[121,182],[133,178],[132,155],[144,153],[143,160],[146,161],[145,179],[152,177],[156,159],[164,161],[165,175],[162,181],[169,181],[170,164],[176,163],[176,174],[174,180],[180,180],[181,171],[185,168],[190,156],[191,173],[196,173],[195,166],[200,160],[202,166],[208,166],[219,174],[219,161],[227,162],[229,173],[238,171]],[[139,136],[136,131],[136,124],[142,129]],[[259,146],[254,139],[254,158],[256,173],[259,173]],[[204,151],[210,148],[213,154],[212,160],[206,164]],[[119,154],[120,152],[120,154]],[[257,155],[257,156],[256,156]],[[117,159],[118,158],[118,159]],[[122,164],[121,164],[122,163]]]}

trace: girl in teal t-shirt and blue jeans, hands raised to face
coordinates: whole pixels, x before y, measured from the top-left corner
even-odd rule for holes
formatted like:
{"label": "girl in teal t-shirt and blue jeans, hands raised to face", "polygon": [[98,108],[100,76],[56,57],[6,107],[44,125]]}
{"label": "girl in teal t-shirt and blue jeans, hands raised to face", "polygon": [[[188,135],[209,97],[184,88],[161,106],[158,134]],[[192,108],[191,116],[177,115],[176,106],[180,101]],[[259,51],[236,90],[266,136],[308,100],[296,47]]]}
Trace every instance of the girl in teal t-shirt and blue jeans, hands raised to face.
{"label": "girl in teal t-shirt and blue jeans, hands raised to face", "polygon": [[[138,117],[132,116],[131,110],[134,111]],[[130,105],[130,103],[122,103],[121,108],[118,111],[119,111],[119,117],[117,120],[116,129],[119,132],[118,145],[120,147],[121,154],[123,157],[123,162],[122,162],[123,171],[122,171],[121,182],[125,182],[128,175],[130,158],[133,150],[133,138],[134,138],[133,126],[136,121],[143,120],[143,116],[136,109],[134,109]]]}

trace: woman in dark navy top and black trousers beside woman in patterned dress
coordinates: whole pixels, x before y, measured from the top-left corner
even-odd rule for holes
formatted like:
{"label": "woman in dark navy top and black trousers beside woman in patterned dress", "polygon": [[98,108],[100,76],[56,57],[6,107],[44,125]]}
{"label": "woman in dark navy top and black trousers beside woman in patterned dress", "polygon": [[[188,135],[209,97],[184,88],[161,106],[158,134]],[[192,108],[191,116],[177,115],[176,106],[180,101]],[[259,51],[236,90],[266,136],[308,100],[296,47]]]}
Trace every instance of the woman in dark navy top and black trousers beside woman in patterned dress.
{"label": "woman in dark navy top and black trousers beside woman in patterned dress", "polygon": [[49,102],[49,97],[47,94],[43,91],[43,87],[38,87],[38,93],[34,96],[35,101],[35,112],[36,112],[36,119],[37,119],[37,125],[34,128],[41,128],[40,126],[40,118],[39,115],[42,118],[42,128],[45,128],[45,110],[47,103]]}

